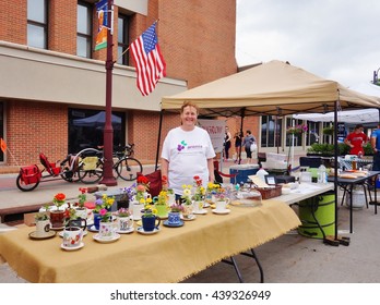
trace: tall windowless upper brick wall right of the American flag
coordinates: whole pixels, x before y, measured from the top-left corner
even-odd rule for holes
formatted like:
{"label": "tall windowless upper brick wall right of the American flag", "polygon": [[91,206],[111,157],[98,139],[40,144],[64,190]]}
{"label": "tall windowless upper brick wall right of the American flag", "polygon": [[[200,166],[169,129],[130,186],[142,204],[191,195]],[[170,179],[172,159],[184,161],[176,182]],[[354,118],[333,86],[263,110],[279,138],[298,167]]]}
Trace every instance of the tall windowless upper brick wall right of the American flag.
{"label": "tall windowless upper brick wall right of the American flag", "polygon": [[235,3],[159,1],[158,41],[168,76],[186,78],[191,88],[236,73]]}

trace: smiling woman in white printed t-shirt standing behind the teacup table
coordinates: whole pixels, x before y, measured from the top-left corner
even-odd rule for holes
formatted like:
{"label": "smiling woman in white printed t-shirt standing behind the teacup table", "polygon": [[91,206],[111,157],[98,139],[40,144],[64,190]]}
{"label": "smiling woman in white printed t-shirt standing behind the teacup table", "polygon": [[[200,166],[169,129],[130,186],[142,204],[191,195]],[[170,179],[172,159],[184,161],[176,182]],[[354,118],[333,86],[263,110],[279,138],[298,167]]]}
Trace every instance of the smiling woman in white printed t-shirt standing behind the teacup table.
{"label": "smiling woman in white printed t-shirt standing behind the teacup table", "polygon": [[183,102],[180,111],[181,125],[170,130],[164,141],[162,175],[167,176],[166,186],[173,188],[177,196],[182,195],[183,184],[193,184],[194,175],[202,179],[204,187],[215,180],[215,151],[209,133],[195,126],[198,113],[197,105]]}

